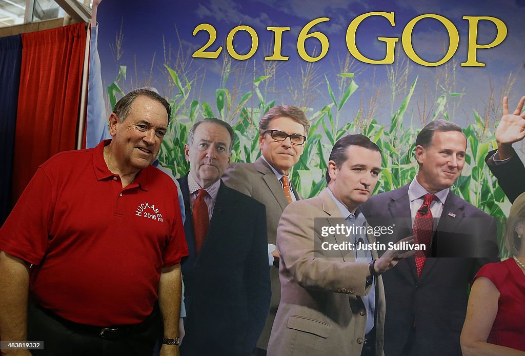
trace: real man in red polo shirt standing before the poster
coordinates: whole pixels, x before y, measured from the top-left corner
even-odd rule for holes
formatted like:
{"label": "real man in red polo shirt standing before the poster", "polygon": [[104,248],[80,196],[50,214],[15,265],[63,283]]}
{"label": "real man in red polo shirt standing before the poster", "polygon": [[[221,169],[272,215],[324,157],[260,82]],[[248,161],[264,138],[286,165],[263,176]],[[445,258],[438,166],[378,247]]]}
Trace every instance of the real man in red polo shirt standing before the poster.
{"label": "real man in red polo shirt standing before the poster", "polygon": [[49,355],[145,355],[162,319],[161,354],[178,355],[188,253],[176,187],[151,165],[170,116],[158,94],[132,91],[109,117],[112,140],[38,167],[0,229],[3,342],[43,341]]}

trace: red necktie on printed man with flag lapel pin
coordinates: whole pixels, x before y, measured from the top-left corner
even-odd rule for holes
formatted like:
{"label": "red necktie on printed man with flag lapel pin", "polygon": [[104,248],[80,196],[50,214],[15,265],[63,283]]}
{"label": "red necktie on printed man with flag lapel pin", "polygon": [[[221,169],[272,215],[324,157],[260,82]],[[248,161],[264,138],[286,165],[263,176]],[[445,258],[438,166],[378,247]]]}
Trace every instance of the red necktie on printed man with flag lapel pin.
{"label": "red necktie on printed man with flag lapel pin", "polygon": [[432,242],[432,233],[434,226],[434,217],[430,211],[430,203],[436,198],[434,194],[425,194],[423,197],[423,205],[417,211],[414,218],[414,235],[416,235],[415,243],[424,244],[425,250],[416,250],[416,269],[417,277],[421,276],[421,271],[425,265],[426,255],[430,249]]}

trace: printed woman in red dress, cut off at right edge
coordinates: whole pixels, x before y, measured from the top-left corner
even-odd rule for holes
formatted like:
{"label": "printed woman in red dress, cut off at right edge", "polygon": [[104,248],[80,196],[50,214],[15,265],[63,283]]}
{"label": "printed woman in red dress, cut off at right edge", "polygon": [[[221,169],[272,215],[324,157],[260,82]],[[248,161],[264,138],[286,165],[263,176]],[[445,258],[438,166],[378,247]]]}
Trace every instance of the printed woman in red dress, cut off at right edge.
{"label": "printed woman in red dress, cut off at right edge", "polygon": [[[521,177],[520,177],[521,179]],[[461,351],[525,355],[525,193],[510,208],[505,245],[514,256],[483,266],[470,290]]]}

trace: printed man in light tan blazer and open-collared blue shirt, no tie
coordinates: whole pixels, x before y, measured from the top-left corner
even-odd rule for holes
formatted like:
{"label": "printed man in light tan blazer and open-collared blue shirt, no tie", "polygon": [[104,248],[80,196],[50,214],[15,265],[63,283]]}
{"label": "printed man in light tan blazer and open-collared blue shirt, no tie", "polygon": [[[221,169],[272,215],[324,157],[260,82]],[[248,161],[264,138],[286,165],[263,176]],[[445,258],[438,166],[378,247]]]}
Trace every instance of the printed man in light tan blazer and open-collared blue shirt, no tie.
{"label": "printed man in light tan blazer and open-collared blue shirt, no tie", "polygon": [[377,257],[359,205],[380,171],[379,147],[363,135],[347,135],[330,154],[327,189],[283,212],[277,230],[281,302],[268,355],[383,355],[380,275],[414,252],[390,249]]}

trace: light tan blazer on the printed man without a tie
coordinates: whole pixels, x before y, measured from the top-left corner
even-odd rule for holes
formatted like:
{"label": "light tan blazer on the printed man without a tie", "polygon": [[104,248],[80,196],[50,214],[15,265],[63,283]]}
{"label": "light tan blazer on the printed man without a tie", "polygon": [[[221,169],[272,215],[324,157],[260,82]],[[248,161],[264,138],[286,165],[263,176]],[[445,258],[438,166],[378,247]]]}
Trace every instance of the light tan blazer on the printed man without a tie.
{"label": "light tan blazer on the printed man without a tie", "polygon": [[[314,218],[319,218],[314,228]],[[344,235],[322,237],[320,225],[344,224],[330,194],[291,203],[277,230],[281,254],[281,303],[268,344],[271,356],[360,355],[366,326],[363,296],[367,263],[355,261],[353,252],[326,252],[323,242],[341,244]],[[368,236],[369,243],[375,242]],[[372,256],[377,253],[372,250]],[[383,353],[385,297],[382,278],[375,281],[376,355]]]}

